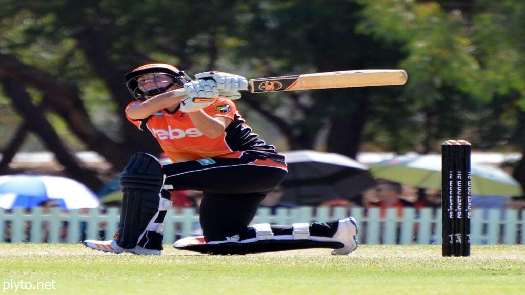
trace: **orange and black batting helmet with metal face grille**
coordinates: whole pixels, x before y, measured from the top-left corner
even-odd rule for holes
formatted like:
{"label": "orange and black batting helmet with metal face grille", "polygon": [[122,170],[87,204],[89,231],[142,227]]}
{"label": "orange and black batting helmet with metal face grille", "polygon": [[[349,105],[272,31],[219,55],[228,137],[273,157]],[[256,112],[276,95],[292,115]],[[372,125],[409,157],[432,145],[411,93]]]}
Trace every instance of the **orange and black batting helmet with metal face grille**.
{"label": "orange and black batting helmet with metal face grille", "polygon": [[[139,77],[143,75],[153,75],[153,78],[148,83],[144,83],[143,81],[139,81]],[[158,75],[170,77],[172,81],[162,81]],[[156,94],[164,93],[175,85],[183,87],[184,83],[192,81],[185,72],[165,64],[145,65],[127,73],[124,77],[126,79],[125,85],[131,95],[140,101],[149,99]],[[151,83],[154,83],[155,88],[146,90],[146,84],[150,85]],[[162,85],[159,85],[159,83],[162,83]],[[150,86],[148,86],[148,88],[149,87]]]}

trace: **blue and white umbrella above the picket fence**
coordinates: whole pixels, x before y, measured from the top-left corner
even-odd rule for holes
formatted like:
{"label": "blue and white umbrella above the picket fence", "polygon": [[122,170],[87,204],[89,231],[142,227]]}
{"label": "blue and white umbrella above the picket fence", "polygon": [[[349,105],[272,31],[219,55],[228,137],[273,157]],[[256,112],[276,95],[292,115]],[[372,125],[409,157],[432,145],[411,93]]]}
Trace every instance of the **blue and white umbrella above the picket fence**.
{"label": "blue and white umbrella above the picket fence", "polygon": [[53,200],[62,210],[96,208],[97,196],[85,185],[66,177],[44,175],[0,176],[0,208],[33,208]]}

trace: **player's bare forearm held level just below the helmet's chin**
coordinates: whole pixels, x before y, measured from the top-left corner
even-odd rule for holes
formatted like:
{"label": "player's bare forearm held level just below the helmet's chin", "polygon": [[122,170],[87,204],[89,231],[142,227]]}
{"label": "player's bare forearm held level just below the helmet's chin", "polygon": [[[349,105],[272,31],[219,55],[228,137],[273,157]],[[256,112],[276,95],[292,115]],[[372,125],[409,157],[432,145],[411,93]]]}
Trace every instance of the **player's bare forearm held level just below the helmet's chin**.
{"label": "player's bare forearm held level just below the helmet's chin", "polygon": [[142,103],[132,104],[126,111],[128,117],[132,120],[142,120],[150,117],[151,114],[158,110],[169,108],[174,104],[180,103],[187,97],[186,93],[181,90],[171,90],[154,96]]}

